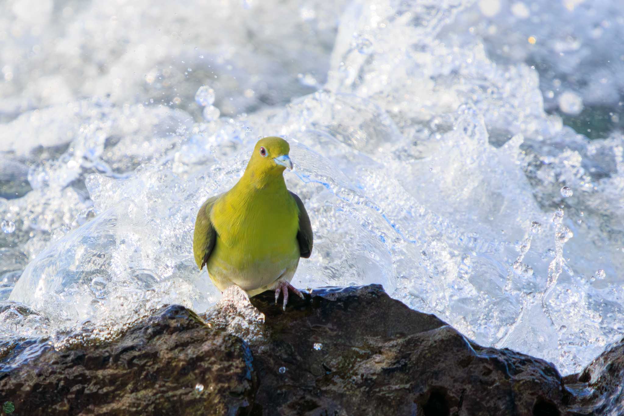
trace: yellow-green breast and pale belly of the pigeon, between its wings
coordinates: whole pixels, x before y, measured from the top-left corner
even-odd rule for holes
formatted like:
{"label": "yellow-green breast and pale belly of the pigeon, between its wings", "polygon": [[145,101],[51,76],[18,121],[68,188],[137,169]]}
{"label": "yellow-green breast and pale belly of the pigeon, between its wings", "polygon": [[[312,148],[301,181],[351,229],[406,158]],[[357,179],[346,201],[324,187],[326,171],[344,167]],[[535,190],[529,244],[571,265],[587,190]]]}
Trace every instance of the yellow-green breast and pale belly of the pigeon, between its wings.
{"label": "yellow-green breast and pale belly of the pigeon, between its wings", "polygon": [[233,283],[253,296],[283,274],[288,281],[295,274],[298,208],[281,175],[273,182],[258,189],[241,180],[213,206],[217,241],[207,266],[222,290]]}

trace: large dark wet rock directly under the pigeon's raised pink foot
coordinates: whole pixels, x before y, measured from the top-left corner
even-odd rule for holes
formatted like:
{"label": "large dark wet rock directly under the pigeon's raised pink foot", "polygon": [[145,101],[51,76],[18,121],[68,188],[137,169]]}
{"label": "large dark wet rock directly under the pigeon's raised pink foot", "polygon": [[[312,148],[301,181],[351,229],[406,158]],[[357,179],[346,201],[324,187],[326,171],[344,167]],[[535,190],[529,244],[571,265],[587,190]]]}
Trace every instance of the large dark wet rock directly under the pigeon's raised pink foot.
{"label": "large dark wet rock directly under the pigeon's raised pink foot", "polygon": [[285,313],[270,293],[251,299],[266,316],[251,343],[264,415],[565,414],[552,364],[480,347],[381,286],[291,299]]}

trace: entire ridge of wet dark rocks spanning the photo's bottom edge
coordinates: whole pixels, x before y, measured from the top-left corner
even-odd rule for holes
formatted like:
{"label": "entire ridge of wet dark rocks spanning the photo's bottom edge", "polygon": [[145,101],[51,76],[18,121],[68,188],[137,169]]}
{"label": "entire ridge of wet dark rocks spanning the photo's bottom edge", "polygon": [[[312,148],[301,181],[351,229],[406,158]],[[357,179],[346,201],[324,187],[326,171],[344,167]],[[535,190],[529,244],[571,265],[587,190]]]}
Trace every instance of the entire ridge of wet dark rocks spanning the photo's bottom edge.
{"label": "entire ridge of wet dark rocks spanning the photo's bottom edge", "polygon": [[14,402],[14,415],[622,414],[624,342],[562,379],[544,360],[470,342],[378,285],[291,296],[286,312],[273,293],[251,304],[226,294],[201,317],[208,324],[168,306],[117,341],[49,347],[0,367],[0,400]]}

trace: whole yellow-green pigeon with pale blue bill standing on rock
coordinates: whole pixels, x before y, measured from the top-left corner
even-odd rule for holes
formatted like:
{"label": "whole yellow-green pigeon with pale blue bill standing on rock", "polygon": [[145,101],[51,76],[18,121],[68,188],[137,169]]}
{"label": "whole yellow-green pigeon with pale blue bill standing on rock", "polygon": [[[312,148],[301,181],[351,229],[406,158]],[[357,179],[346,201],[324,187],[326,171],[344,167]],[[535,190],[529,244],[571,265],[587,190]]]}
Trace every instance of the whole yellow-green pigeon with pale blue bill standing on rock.
{"label": "whole yellow-green pigeon with pale blue bill standing on rock", "polygon": [[221,291],[235,284],[248,296],[288,291],[299,259],[312,252],[312,226],[301,198],[286,188],[290,145],[281,137],[256,143],[245,173],[229,191],[208,198],[197,213],[193,254]]}

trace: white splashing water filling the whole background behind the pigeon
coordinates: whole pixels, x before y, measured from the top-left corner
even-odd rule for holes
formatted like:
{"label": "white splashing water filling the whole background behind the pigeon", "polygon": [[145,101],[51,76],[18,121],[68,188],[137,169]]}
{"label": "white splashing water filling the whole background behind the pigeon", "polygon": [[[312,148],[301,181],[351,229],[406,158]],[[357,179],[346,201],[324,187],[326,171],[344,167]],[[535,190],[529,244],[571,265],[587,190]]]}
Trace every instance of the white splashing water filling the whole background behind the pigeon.
{"label": "white splashing water filling the whole background behind the pigeon", "polygon": [[[314,230],[295,286],[381,283],[480,344],[563,373],[622,336],[624,138],[590,141],[545,112],[557,97],[542,81],[554,80],[534,60],[603,45],[585,29],[550,32],[558,2],[306,1],[279,13],[232,2],[215,16],[58,3],[36,16],[0,6],[14,34],[2,47],[29,51],[11,54],[29,59],[9,57],[0,84],[0,355],[85,326],[107,339],[165,303],[215,304],[193,261],[195,215],[265,135],[290,141],[286,183]],[[617,4],[584,2],[565,18],[624,16]],[[32,19],[41,34],[20,35]],[[522,39],[505,50],[495,33],[511,26]],[[621,39],[624,23],[602,30]],[[600,54],[613,54],[599,83],[612,94],[621,42]],[[550,65],[591,84],[595,62],[574,62]],[[611,95],[576,91],[618,114]]]}

